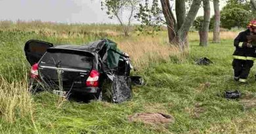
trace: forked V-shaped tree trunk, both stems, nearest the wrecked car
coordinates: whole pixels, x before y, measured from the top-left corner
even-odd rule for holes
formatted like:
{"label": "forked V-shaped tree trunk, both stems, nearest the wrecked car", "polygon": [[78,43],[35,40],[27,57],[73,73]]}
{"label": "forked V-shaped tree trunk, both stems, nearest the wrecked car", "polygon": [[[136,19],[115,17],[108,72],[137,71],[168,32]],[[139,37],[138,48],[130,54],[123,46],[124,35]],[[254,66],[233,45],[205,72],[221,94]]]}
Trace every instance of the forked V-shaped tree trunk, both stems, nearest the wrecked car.
{"label": "forked V-shaped tree trunk, both stems, nearest the wrecked car", "polygon": [[[181,50],[188,46],[187,36],[188,31],[196,18],[196,14],[200,8],[200,4],[202,0],[193,0],[190,10],[186,18],[184,18],[185,14],[185,0],[177,0],[178,9],[176,8],[177,19],[179,22],[176,23],[175,17],[173,16],[173,12],[171,11],[169,0],[160,0],[161,7],[163,10],[163,15],[165,16],[167,28],[168,28],[168,37],[169,42],[173,44],[177,44]],[[181,23],[183,22],[183,23]],[[177,26],[179,24],[179,26]],[[179,27],[179,29],[177,28]]]}

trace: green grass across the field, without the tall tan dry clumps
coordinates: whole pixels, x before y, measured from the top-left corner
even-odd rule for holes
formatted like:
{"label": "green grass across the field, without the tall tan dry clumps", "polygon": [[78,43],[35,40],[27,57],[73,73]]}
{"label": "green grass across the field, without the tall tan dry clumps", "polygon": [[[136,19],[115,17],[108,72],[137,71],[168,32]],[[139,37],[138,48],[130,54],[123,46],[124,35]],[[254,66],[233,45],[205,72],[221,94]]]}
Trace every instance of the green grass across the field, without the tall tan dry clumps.
{"label": "green grass across the field, without the tall tan dry clumps", "polygon": [[[10,83],[25,80],[30,66],[23,46],[28,39],[82,44],[95,38],[100,37],[65,39],[3,31],[0,74]],[[121,104],[65,101],[56,107],[59,99],[56,95],[40,93],[31,98],[32,106],[28,105],[31,113],[21,116],[22,110],[14,109],[12,122],[3,116],[5,111],[0,108],[0,133],[255,133],[256,104],[248,107],[242,103],[243,100],[250,103],[256,97],[255,67],[249,75],[249,84],[240,85],[232,80],[232,40],[209,44],[207,48],[198,44],[198,41],[190,42],[189,55],[182,60],[170,57],[168,62],[151,63],[135,73],[144,77],[146,86],[133,87],[131,101]],[[207,57],[214,64],[195,65],[194,60],[200,57]],[[225,90],[240,90],[243,97],[224,99]],[[175,123],[152,126],[129,122],[128,116],[137,112],[165,112],[174,116]]]}

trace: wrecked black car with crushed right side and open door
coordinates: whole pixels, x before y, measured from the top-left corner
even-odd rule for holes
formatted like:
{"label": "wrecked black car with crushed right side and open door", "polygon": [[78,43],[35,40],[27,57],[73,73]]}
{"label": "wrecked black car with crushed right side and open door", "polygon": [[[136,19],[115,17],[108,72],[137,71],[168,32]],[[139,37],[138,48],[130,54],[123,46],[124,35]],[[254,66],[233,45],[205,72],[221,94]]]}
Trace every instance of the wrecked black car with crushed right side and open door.
{"label": "wrecked black car with crushed right side and open door", "polygon": [[[114,103],[131,99],[131,61],[128,54],[121,52],[109,39],[83,46],[53,46],[50,42],[30,40],[24,50],[32,65],[30,83],[33,92],[79,93],[100,100],[102,94],[108,92]],[[141,78],[133,78],[140,83]]]}

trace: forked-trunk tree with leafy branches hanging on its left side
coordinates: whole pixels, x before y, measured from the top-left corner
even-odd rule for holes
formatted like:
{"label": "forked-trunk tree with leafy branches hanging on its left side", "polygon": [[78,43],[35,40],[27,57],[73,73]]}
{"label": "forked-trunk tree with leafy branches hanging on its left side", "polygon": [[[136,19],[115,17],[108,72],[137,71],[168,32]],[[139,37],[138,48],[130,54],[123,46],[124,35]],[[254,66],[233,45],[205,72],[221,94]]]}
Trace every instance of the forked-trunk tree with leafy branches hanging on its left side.
{"label": "forked-trunk tree with leafy branches hanging on its left side", "polygon": [[148,0],[145,0],[144,5],[140,4],[140,12],[136,17],[145,25],[167,25],[169,42],[176,44],[183,50],[188,46],[188,31],[196,18],[202,0],[193,0],[188,14],[186,14],[186,0],[176,0],[177,19],[173,14],[170,1],[160,0],[160,2],[161,10],[158,8],[158,0],[153,0],[151,8]]}

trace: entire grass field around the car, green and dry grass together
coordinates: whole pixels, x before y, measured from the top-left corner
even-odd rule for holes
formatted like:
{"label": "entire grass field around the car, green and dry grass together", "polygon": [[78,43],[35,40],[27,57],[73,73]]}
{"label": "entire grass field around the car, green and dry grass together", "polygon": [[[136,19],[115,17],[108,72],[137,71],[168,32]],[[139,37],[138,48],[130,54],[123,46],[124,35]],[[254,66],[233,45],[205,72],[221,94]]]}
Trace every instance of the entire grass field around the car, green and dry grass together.
{"label": "entire grass field around the car, green and dry grass together", "polygon": [[[221,33],[221,44],[210,43],[207,48],[198,45],[198,33],[190,33],[190,50],[188,54],[181,54],[177,48],[168,46],[165,31],[156,37],[125,38],[115,25],[1,22],[0,27],[0,133],[256,131],[255,67],[249,84],[240,85],[232,80],[232,38],[237,32]],[[26,76],[30,66],[23,52],[26,41],[84,44],[102,37],[118,42],[119,48],[131,55],[138,68],[133,73],[146,80],[146,86],[133,88],[131,101],[122,104],[60,102],[51,93],[31,95],[27,92]],[[195,65],[194,60],[200,57],[207,57],[214,64]],[[242,98],[224,99],[225,90],[240,90]],[[164,126],[129,122],[127,117],[137,112],[171,114],[175,123]]]}

